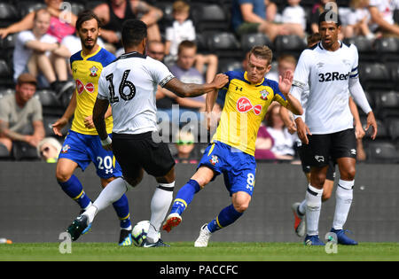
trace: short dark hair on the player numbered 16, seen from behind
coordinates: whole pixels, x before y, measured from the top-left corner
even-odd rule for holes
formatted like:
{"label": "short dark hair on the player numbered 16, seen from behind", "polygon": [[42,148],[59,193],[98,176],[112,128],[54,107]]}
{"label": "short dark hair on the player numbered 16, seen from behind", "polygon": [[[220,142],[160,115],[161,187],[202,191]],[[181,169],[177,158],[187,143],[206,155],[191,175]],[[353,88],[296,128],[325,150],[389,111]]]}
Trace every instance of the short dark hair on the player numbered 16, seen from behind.
{"label": "short dark hair on the player numbered 16, seen from behind", "polygon": [[139,19],[128,19],[123,22],[121,42],[123,47],[135,47],[147,37],[147,25]]}

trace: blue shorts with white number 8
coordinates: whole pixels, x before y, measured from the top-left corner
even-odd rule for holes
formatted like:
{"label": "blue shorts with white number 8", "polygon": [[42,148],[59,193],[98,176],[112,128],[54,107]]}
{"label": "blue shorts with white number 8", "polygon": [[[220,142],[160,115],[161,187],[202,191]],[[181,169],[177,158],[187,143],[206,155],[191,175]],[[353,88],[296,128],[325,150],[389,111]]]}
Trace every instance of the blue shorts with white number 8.
{"label": "blue shorts with white number 8", "polygon": [[211,168],[216,175],[223,174],[224,185],[230,195],[244,191],[252,196],[256,174],[254,156],[228,144],[215,142],[209,144],[204,151],[198,167],[201,166]]}

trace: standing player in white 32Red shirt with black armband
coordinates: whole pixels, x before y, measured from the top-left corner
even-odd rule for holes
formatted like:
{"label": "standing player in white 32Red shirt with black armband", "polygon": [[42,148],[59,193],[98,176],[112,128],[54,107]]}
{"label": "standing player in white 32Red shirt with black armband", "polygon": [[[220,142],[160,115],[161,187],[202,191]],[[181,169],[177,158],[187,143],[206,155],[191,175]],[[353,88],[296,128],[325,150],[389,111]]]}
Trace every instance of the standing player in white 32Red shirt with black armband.
{"label": "standing player in white 32Red shirt with black armband", "polygon": [[293,96],[301,99],[305,86],[309,84],[305,112],[307,126],[302,120],[295,121],[301,142],[308,144],[306,158],[309,158],[307,165],[311,167],[306,192],[305,244],[324,245],[318,236],[318,221],[330,157],[337,161],[340,169],[331,232],[336,234],[339,244],[357,244],[345,235],[343,229],[352,203],[356,174],[356,136],[348,105],[349,91],[367,114],[366,130],[372,126],[372,139],[377,136],[377,123],[359,82],[356,46],[347,46],[338,40],[338,15],[328,10],[320,15],[318,25],[321,42],[301,53],[292,89]]}

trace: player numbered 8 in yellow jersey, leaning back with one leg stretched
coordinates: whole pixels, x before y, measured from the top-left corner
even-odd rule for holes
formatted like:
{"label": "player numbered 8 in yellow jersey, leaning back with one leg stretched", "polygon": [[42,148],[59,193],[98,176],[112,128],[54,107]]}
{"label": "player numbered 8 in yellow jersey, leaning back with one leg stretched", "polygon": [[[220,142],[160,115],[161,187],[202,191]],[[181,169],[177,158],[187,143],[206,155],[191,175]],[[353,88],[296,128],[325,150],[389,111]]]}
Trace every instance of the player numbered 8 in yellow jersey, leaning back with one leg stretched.
{"label": "player numbered 8 in yellow jersey, leaning back with one leg stretched", "polygon": [[[293,73],[287,71],[279,82],[264,76],[270,71],[272,52],[267,46],[255,46],[249,53],[246,72],[231,71],[229,82],[223,90],[226,97],[219,126],[211,143],[204,151],[197,172],[182,187],[163,229],[170,231],[181,221],[181,214],[192,202],[194,194],[223,174],[224,183],[231,195],[231,205],[203,225],[195,247],[207,247],[212,233],[222,229],[246,211],[254,191],[256,162],[254,143],[269,105],[277,101],[294,114],[301,114],[300,102],[290,94]],[[207,112],[212,112],[217,92],[207,94]]]}

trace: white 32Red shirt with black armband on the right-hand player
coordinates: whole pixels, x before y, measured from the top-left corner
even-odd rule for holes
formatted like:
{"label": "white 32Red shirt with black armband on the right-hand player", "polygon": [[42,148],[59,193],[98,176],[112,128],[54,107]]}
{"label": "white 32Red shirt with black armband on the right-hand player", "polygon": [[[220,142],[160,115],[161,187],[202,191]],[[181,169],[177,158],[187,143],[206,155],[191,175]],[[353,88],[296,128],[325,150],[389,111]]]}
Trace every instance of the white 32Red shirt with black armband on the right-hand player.
{"label": "white 32Red shirt with black armband on the right-hand player", "polygon": [[[293,75],[293,88],[299,87],[300,90],[293,90],[293,96],[298,100],[306,99],[298,94],[306,94],[304,90],[309,84],[305,118],[312,134],[332,134],[353,128],[353,116],[348,105],[349,86],[351,82],[358,82],[357,64],[358,53],[353,44],[340,43],[339,50],[329,51],[322,43],[317,43],[301,53]],[[363,90],[360,95],[362,93],[364,96]],[[357,96],[354,98],[358,99]],[[366,113],[371,111],[367,105]]]}

